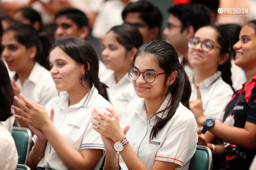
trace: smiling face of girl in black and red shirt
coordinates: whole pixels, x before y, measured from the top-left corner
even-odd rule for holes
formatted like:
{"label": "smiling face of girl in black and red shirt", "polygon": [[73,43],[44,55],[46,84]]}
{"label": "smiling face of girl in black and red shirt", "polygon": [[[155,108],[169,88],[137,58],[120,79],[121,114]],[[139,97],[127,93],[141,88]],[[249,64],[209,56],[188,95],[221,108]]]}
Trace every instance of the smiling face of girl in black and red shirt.
{"label": "smiling face of girl in black and red shirt", "polygon": [[245,25],[240,31],[239,41],[234,44],[235,65],[244,70],[256,67],[256,34],[250,25]]}

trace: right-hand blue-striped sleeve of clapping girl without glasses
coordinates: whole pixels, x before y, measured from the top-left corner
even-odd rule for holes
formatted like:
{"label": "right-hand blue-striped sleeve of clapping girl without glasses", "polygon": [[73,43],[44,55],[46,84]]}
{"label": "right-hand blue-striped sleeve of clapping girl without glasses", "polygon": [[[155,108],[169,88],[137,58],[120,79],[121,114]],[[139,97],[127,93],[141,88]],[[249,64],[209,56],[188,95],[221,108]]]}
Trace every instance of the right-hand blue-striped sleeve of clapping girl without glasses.
{"label": "right-hand blue-striped sleeve of clapping girl without glasses", "polygon": [[[101,113],[103,113],[103,112],[108,113],[108,111],[105,109],[105,106],[98,107],[98,110]],[[83,139],[82,139],[81,150],[82,149],[102,149],[102,150],[104,150],[105,146],[103,144],[103,141],[101,140],[101,135],[92,128],[91,120],[89,122],[90,122],[89,126],[88,126],[87,130],[85,131]]]}

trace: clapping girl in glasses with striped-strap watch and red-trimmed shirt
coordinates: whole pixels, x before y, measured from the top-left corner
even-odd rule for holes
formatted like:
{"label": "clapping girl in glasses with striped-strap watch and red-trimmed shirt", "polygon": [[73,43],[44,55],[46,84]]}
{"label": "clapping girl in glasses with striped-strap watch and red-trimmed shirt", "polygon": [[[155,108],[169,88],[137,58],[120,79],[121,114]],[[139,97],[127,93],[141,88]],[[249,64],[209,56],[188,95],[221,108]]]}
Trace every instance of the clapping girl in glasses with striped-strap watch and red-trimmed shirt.
{"label": "clapping girl in glasses with striped-strap watch and red-trimmed shirt", "polygon": [[106,147],[104,170],[188,169],[197,123],[189,110],[189,79],[174,47],[158,40],[142,45],[128,73],[144,100],[130,103],[120,124],[113,109],[108,108],[108,116],[92,111],[93,129]]}

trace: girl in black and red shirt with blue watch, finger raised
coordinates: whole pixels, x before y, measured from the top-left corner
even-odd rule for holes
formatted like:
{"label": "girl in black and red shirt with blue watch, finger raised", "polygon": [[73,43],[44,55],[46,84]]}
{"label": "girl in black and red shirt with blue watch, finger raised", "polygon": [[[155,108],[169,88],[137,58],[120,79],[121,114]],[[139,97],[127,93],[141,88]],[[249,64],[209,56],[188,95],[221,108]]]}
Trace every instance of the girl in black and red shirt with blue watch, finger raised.
{"label": "girl in black and red shirt with blue watch, finger raised", "polygon": [[[204,115],[202,98],[197,85],[197,99],[190,103],[197,123],[224,142],[211,145],[204,139],[205,145],[215,150],[214,158],[223,158],[220,169],[249,169],[256,154],[256,20],[243,26],[239,41],[234,44],[235,64],[246,75],[243,88],[235,91],[225,109],[224,122],[210,123]],[[209,126],[210,125],[210,126]],[[200,137],[200,136],[199,136]],[[214,146],[214,147],[213,147]]]}

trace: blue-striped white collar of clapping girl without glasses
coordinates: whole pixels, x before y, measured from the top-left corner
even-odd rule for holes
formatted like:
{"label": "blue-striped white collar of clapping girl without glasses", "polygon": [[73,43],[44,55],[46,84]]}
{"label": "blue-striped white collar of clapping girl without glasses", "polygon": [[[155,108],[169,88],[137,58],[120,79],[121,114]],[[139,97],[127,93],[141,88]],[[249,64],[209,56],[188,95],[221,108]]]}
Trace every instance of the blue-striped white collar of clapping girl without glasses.
{"label": "blue-striped white collar of clapping girl without glasses", "polygon": [[[92,87],[90,91],[84,96],[84,98],[79,103],[70,106],[70,108],[90,107],[92,105],[92,102],[94,101],[94,98],[97,96],[98,93],[99,93],[98,90],[92,83]],[[67,93],[63,98],[57,101],[57,105],[60,108],[63,108],[64,110],[66,110],[68,108],[68,102],[69,102],[69,96]]]}

